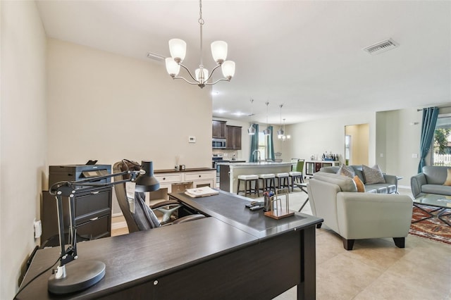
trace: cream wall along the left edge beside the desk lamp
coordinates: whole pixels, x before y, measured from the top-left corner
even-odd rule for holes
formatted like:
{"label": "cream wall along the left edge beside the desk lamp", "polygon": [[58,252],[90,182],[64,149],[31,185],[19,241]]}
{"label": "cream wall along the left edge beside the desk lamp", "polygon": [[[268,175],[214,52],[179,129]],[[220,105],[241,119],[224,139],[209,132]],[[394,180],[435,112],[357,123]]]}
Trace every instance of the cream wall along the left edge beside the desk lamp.
{"label": "cream wall along the left edge beside the desk lamp", "polygon": [[35,247],[46,166],[46,37],[34,1],[0,1],[0,299],[13,299]]}

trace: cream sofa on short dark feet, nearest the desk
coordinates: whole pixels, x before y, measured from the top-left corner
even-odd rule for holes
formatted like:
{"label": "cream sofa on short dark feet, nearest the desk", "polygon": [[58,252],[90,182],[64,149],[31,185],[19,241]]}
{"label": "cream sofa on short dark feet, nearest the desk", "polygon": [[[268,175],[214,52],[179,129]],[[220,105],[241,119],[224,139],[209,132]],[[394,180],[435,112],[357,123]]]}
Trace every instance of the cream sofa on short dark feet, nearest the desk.
{"label": "cream sofa on short dark feet, nearest the desk", "polygon": [[404,248],[412,220],[409,196],[357,192],[350,177],[323,172],[314,174],[307,191],[312,213],[342,237],[345,249],[352,250],[355,239],[382,237]]}

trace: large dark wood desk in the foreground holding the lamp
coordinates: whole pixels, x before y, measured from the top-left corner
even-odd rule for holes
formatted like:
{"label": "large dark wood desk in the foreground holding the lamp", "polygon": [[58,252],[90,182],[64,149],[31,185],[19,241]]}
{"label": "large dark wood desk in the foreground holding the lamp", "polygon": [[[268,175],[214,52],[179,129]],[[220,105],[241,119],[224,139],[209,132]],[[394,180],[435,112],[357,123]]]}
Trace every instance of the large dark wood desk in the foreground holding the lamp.
{"label": "large dark wood desk in the foreground holding the lamp", "polygon": [[[321,219],[295,213],[274,220],[226,192],[170,196],[209,218],[81,242],[80,260],[106,265],[97,285],[54,296],[47,292],[49,271],[17,299],[272,299],[296,285],[298,299],[315,299],[315,227]],[[58,250],[38,250],[23,285],[54,263]]]}

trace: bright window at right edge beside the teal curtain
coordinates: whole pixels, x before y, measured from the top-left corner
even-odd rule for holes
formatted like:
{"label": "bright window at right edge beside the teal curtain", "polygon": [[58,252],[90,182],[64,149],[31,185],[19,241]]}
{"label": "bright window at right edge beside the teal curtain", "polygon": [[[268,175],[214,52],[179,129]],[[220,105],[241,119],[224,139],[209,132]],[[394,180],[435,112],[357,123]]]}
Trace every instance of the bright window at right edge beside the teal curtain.
{"label": "bright window at right edge beside the teal curtain", "polygon": [[451,113],[438,115],[433,139],[432,165],[451,166]]}

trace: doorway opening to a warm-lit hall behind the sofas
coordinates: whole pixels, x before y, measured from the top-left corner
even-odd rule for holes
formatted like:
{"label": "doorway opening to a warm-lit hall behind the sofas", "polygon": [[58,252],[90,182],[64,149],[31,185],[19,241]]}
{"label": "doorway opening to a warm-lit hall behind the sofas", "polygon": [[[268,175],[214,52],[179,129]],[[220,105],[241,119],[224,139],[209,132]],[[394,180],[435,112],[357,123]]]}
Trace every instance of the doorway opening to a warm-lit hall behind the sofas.
{"label": "doorway opening to a warm-lit hall behind the sofas", "polygon": [[369,124],[345,126],[345,156],[349,165],[368,165]]}

